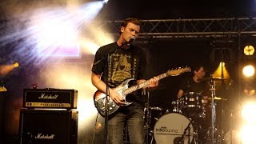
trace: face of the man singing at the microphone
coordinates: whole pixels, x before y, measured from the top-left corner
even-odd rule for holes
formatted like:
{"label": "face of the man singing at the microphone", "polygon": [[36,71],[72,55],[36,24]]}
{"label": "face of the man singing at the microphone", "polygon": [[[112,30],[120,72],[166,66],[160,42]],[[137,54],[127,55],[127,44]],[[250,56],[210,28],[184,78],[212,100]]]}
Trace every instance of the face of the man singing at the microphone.
{"label": "face of the man singing at the microphone", "polygon": [[134,25],[134,23],[129,22],[126,27],[121,28],[123,40],[129,42],[130,37],[138,38],[139,30],[140,26]]}

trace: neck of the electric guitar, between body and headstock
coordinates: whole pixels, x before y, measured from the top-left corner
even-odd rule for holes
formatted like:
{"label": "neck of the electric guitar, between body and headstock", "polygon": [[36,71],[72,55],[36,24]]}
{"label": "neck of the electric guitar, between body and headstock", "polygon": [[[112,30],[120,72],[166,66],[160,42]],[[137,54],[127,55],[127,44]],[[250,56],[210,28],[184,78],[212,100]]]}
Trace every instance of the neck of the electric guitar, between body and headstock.
{"label": "neck of the electric guitar, between body and headstock", "polygon": [[[166,78],[166,77],[167,77],[166,73],[156,76],[157,80],[160,80],[160,79]],[[149,85],[150,85],[150,80],[146,80],[145,82],[142,82],[138,85],[130,86],[128,89],[123,91],[123,94],[125,94],[125,95],[130,94],[130,93],[132,93],[136,90],[142,89],[143,87],[146,87],[146,86],[149,86]]]}

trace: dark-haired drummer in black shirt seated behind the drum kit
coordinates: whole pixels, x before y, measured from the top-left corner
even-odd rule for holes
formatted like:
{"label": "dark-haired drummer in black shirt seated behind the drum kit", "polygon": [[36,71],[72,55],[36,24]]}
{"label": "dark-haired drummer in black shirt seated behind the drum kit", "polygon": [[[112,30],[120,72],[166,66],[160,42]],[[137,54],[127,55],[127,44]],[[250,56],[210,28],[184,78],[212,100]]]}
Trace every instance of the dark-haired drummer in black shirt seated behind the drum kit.
{"label": "dark-haired drummer in black shirt seated behind the drum kit", "polygon": [[185,78],[179,85],[178,98],[182,98],[185,94],[199,94],[202,96],[202,103],[207,103],[206,98],[209,95],[209,84],[206,81],[203,81],[203,78],[206,75],[204,66],[198,64],[192,68],[192,77]]}

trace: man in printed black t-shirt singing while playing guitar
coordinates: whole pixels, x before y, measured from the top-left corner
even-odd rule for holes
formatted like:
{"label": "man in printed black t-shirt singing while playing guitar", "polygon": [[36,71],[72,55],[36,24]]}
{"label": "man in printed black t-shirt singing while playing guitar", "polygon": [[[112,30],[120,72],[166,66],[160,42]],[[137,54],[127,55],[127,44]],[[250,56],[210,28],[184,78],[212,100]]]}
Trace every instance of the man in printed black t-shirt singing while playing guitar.
{"label": "man in printed black t-shirt singing while playing guitar", "polygon": [[[122,144],[125,124],[128,127],[130,143],[143,144],[145,129],[143,119],[144,103],[142,94],[127,97],[132,104],[124,105],[124,99],[115,90],[127,78],[134,78],[136,83],[146,81],[146,54],[132,44],[138,38],[141,21],[138,18],[126,18],[119,30],[117,42],[110,43],[98,49],[92,67],[92,84],[103,93],[106,93],[108,83],[110,98],[120,106],[113,116],[108,118],[108,143]],[[109,57],[107,57],[109,55]],[[157,78],[151,78],[146,88],[158,86]]]}

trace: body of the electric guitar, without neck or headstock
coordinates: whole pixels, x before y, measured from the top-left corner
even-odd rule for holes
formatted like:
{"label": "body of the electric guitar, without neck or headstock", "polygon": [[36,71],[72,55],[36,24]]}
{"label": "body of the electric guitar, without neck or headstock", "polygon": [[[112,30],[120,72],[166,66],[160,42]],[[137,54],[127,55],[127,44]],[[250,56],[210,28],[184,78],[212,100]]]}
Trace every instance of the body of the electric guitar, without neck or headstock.
{"label": "body of the electric guitar, without neck or headstock", "polygon": [[[123,94],[123,90],[128,89],[129,87],[129,82],[134,80],[134,78],[128,78],[124,82],[122,82],[120,85],[114,87],[114,91],[116,91],[124,100],[125,100],[125,105],[122,106],[128,106],[132,102],[126,102],[126,95]],[[105,111],[105,102],[106,102],[106,94],[102,93],[100,90],[97,90],[94,93],[94,105],[96,109],[98,110],[98,113],[102,115],[102,117],[105,117],[106,111]],[[118,106],[112,98],[109,97],[109,102],[107,102],[107,114],[109,116],[115,114],[120,106]]]}

